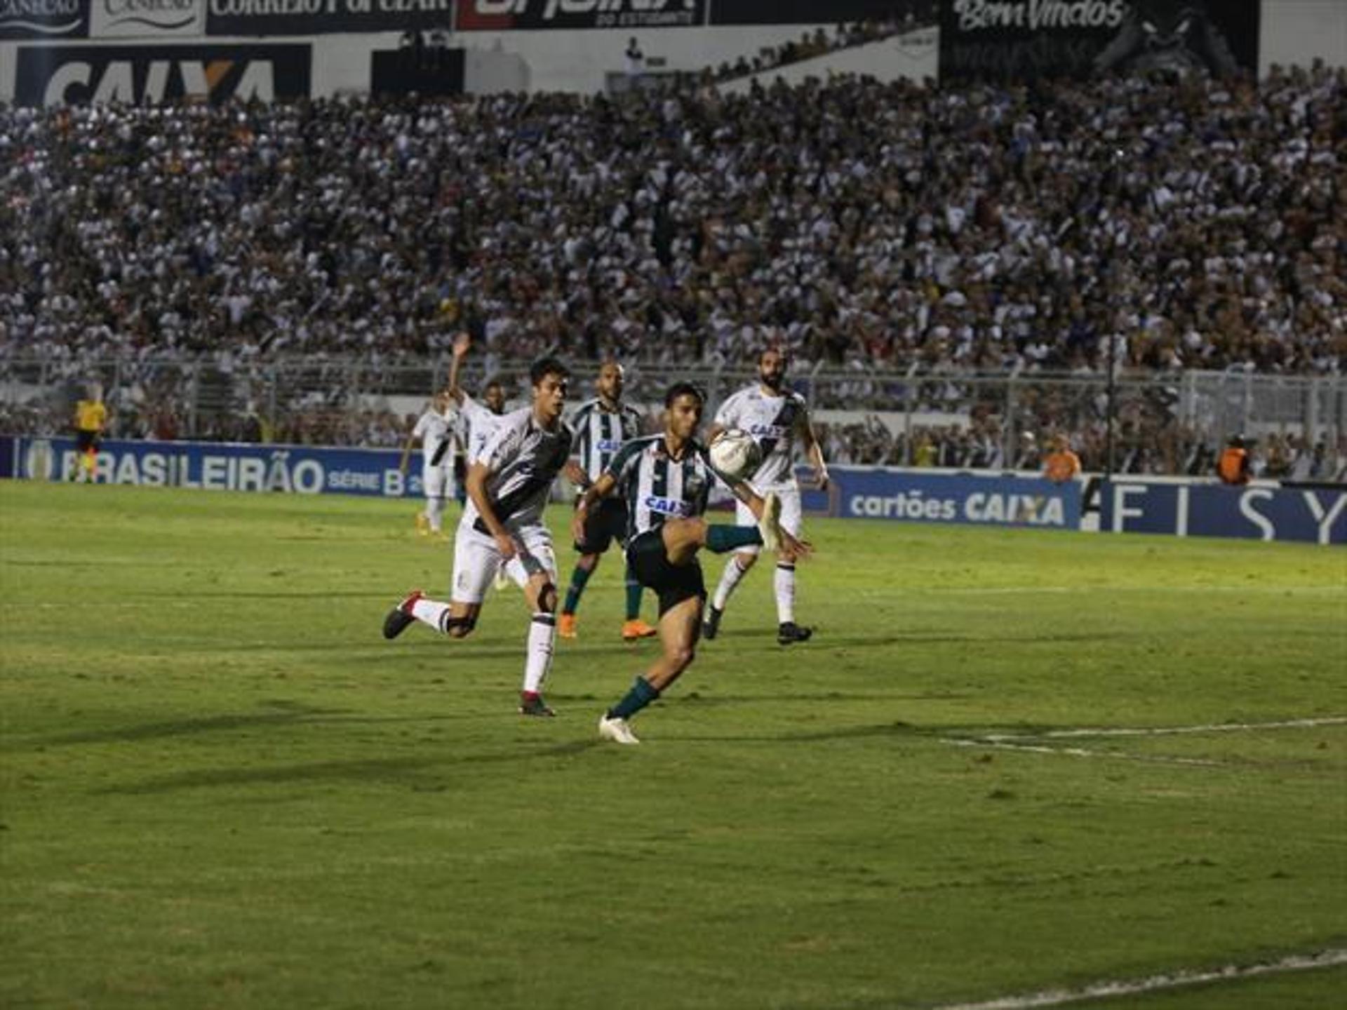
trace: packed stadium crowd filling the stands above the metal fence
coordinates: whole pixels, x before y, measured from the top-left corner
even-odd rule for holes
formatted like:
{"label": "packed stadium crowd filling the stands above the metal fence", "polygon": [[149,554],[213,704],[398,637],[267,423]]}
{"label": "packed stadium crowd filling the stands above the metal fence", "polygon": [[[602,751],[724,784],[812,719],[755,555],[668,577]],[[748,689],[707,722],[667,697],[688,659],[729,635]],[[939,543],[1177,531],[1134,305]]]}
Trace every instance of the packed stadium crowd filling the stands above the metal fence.
{"label": "packed stadium crowd filling the stands above the metal fence", "polygon": [[71,370],[411,362],[462,327],[501,358],[777,342],[867,373],[1098,376],[1113,349],[1336,374],[1347,350],[1347,71],[1317,66],[3,108],[0,179],[0,354]]}

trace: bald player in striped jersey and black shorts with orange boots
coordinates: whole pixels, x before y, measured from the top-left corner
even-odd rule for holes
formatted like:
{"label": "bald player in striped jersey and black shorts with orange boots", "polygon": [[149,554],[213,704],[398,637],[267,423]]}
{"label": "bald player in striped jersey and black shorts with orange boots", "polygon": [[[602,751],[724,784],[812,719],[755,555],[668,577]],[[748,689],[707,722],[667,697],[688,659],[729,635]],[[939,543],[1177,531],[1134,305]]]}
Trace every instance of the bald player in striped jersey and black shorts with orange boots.
{"label": "bald player in striped jersey and black shorts with orange boots", "polygon": [[[622,366],[616,361],[605,361],[598,369],[598,396],[586,400],[571,415],[570,424],[575,430],[575,450],[579,461],[566,466],[566,475],[582,492],[599,478],[605,467],[628,442],[641,434],[641,412],[622,403]],[[581,605],[581,594],[599,558],[614,540],[621,545],[626,541],[626,500],[614,496],[603,498],[590,509],[585,521],[585,535],[575,540],[575,571],[571,584],[562,602],[562,613],[556,622],[556,633],[563,638],[575,638],[575,610]],[[655,634],[641,619],[641,583],[626,566],[626,619],[622,622],[622,641],[634,642]]]}

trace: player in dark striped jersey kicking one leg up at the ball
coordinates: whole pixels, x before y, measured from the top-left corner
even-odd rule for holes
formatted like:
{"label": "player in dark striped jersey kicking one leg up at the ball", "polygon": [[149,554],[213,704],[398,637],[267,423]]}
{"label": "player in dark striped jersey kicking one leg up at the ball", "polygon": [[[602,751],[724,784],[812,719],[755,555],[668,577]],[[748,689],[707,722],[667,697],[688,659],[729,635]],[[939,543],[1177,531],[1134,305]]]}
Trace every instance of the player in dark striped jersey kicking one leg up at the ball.
{"label": "player in dark striped jersey kicking one leg up at the ball", "polygon": [[756,528],[711,525],[702,518],[711,481],[719,477],[695,438],[704,404],[706,396],[695,385],[675,382],[664,397],[664,432],[626,442],[581,497],[571,520],[578,537],[589,510],[621,489],[628,502],[626,556],[636,578],[655,590],[660,601],[663,653],[598,723],[599,735],[614,743],[640,742],[630,727],[632,716],[692,663],[706,603],[698,551],[706,547],[723,553],[765,544],[793,562],[812,549],[781,529],[781,504],[776,496],[758,497],[742,481],[727,483],[754,517]]}

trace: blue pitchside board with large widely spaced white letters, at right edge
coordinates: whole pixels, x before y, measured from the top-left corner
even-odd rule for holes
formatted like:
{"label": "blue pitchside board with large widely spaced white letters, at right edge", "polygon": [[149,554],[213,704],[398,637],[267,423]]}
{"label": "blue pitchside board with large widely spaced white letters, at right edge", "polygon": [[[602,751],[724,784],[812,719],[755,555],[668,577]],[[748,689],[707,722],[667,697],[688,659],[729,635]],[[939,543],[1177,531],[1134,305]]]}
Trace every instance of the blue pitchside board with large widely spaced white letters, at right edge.
{"label": "blue pitchside board with large widely spaced white letters, at right edge", "polygon": [[1347,544],[1340,490],[1115,479],[1103,485],[1099,509],[1099,528],[1114,533]]}

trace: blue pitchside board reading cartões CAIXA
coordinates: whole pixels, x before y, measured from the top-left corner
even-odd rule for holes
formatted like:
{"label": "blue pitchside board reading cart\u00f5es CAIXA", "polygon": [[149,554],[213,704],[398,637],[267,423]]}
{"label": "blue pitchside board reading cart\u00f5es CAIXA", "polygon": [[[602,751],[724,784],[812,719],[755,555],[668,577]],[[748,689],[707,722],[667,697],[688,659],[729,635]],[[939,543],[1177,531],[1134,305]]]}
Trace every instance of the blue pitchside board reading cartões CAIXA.
{"label": "blue pitchside board reading cart\u00f5es CAIXA", "polygon": [[842,466],[828,473],[826,493],[806,492],[806,512],[904,523],[1080,528],[1080,486],[1074,481]]}

